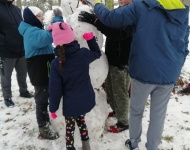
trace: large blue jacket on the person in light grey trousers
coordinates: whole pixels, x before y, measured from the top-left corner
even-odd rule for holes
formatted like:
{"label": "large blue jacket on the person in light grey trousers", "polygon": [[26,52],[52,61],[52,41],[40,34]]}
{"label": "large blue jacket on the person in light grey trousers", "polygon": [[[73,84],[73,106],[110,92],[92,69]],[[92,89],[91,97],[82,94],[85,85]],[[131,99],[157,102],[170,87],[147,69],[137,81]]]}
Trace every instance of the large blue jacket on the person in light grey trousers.
{"label": "large blue jacket on the person in light grey trousers", "polygon": [[94,12],[107,26],[135,26],[131,78],[150,84],[175,83],[188,54],[188,7],[166,10],[156,0],[133,0],[111,11],[96,4]]}

